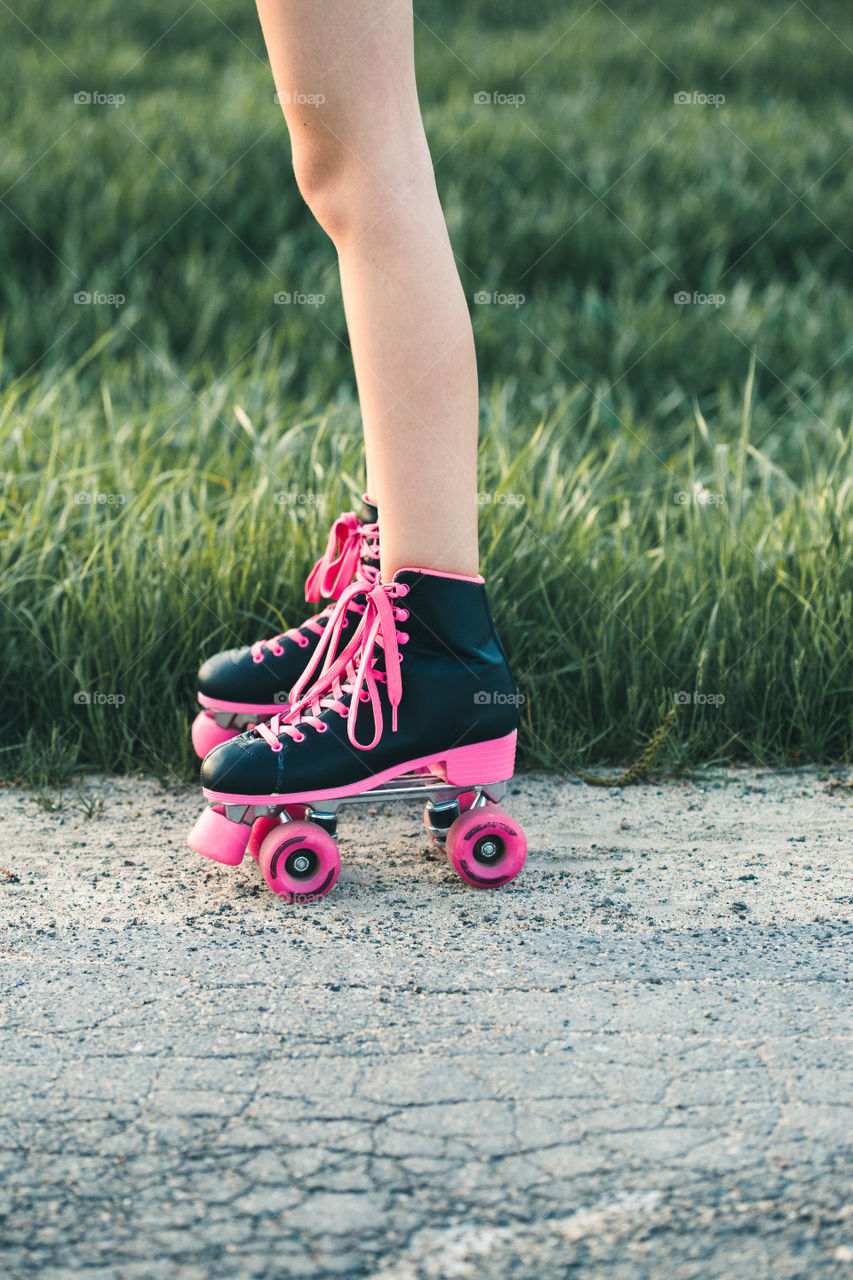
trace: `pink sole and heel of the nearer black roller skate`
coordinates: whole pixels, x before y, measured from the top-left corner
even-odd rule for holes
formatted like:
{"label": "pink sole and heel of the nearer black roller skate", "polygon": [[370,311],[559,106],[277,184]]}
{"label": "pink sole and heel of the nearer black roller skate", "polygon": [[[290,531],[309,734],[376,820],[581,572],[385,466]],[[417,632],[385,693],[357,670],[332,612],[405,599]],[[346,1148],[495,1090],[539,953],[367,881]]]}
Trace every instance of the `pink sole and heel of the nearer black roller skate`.
{"label": "pink sole and heel of the nearer black roller skate", "polygon": [[[420,755],[415,760],[394,764],[382,769],[371,778],[361,782],[348,782],[342,787],[325,787],[321,791],[282,791],[279,795],[234,795],[231,791],[209,791],[202,787],[207,800],[224,804],[289,804],[291,801],[327,800],[333,796],[355,796],[373,791],[382,782],[391,782],[401,773],[410,773],[426,767],[430,773],[443,778],[451,786],[482,786],[487,782],[506,782],[512,777],[515,767],[515,741],[517,732],[512,730],[506,737],[493,737],[489,742],[474,742],[471,746],[453,746],[450,751],[435,751]],[[370,782],[368,787],[365,785]]]}

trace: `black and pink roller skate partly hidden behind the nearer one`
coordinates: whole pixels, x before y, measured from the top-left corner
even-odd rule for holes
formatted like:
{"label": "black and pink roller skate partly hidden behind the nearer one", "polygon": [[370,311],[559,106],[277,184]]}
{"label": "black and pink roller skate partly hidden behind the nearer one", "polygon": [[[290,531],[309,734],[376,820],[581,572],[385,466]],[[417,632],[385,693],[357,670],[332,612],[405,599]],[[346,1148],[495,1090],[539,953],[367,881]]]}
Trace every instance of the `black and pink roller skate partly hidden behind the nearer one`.
{"label": "black and pink roller skate partly hidden behind the nearer one", "polygon": [[[353,577],[368,582],[379,577],[377,508],[368,498],[362,499],[360,518],[348,511],[336,520],[325,552],[305,582],[305,599],[334,602]],[[327,605],[301,626],[288,627],[270,640],[256,640],[207,658],[199,672],[202,710],[192,723],[196,755],[204,759],[214,746],[287,709],[288,691],[305,669],[310,649],[323,635],[332,608]],[[345,627],[355,627],[359,608],[353,600]]]}

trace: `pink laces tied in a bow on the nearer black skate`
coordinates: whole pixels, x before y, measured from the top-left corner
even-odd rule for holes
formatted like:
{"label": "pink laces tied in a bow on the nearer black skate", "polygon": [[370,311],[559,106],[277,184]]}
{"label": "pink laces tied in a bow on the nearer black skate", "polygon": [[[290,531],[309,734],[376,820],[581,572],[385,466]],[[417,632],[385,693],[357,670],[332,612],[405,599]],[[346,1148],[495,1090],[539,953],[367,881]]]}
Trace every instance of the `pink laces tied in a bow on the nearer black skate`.
{"label": "pink laces tied in a bow on the nearer black skate", "polygon": [[[338,653],[347,608],[351,607],[352,598],[360,594],[365,596],[361,621],[350,641]],[[336,710],[343,717],[352,745],[360,751],[370,751],[382,737],[383,730],[379,682],[388,689],[391,728],[392,732],[397,731],[397,707],[402,698],[400,675],[402,654],[398,646],[406,644],[409,635],[398,631],[396,623],[405,622],[409,609],[398,608],[392,600],[407,594],[409,588],[405,582],[373,585],[353,582],[345,590],[333,605],[323,639],[314,650],[310,663],[291,690],[289,709],[273,716],[268,723],[256,726],[256,731],[269,742],[273,751],[282,750],[283,744],[279,741],[282,733],[287,733],[296,742],[302,742],[305,733],[300,724],[310,724],[318,733],[325,733],[328,724],[320,719],[324,710]],[[384,671],[377,671],[375,667],[377,645],[384,652]],[[314,684],[310,684],[324,652],[323,666]],[[343,701],[345,694],[350,695],[348,707]],[[359,704],[366,701],[371,704],[374,735],[370,742],[360,742],[356,739],[355,723]]]}

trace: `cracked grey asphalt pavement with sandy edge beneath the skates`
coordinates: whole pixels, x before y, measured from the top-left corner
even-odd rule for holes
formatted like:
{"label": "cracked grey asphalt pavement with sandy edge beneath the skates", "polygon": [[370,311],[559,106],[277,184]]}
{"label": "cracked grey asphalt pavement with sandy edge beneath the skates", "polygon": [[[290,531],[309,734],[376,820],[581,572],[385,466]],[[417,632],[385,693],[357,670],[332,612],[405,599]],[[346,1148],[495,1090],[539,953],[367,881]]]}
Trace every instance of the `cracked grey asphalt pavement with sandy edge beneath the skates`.
{"label": "cracked grey asphalt pavement with sandy edge beneath the skates", "polygon": [[853,1277],[849,771],[524,776],[293,906],[192,788],[0,788],[0,1274]]}

